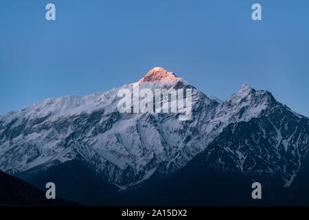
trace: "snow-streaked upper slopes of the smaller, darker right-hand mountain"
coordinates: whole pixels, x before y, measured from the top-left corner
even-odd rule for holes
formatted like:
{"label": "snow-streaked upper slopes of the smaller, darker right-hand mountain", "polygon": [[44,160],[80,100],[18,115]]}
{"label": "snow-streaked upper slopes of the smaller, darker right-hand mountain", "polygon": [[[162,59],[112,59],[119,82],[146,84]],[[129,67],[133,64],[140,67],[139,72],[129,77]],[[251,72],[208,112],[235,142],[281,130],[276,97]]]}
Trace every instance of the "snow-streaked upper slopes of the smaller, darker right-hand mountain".
{"label": "snow-streaked upper slopes of the smaller, darker right-hand mountain", "polygon": [[[247,102],[255,110],[248,111]],[[255,181],[290,186],[307,164],[308,118],[277,102],[268,91],[247,86],[223,102],[222,108],[231,111],[235,105],[243,106],[238,120],[232,119],[194,160],[220,170],[240,171]],[[246,120],[248,116],[250,120]]]}

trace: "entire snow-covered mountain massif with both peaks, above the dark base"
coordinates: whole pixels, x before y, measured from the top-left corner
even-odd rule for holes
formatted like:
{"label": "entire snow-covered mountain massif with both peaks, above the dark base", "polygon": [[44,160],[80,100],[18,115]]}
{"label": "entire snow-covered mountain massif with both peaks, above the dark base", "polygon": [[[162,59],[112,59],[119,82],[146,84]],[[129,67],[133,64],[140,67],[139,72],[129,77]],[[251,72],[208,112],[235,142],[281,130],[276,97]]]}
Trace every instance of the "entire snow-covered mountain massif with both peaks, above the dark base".
{"label": "entire snow-covered mountain massif with both peaks, above the dark base", "polygon": [[[192,118],[179,120],[180,111],[120,113],[118,92],[127,89],[134,94],[136,85],[153,94],[156,89],[192,89]],[[82,178],[73,171],[78,168],[82,176],[102,182],[91,185],[98,188],[96,201],[102,199],[102,204],[117,203],[111,198],[119,192],[119,197],[138,194],[142,185],[148,192],[159,187],[153,185],[157,181],[177,184],[169,179],[177,173],[187,175],[183,170],[190,170],[192,163],[201,164],[209,175],[214,169],[222,177],[234,173],[235,179],[292,188],[297,173],[308,172],[308,123],[268,91],[242,85],[221,103],[155,67],[137,83],[82,98],[49,98],[0,116],[0,169],[34,186],[73,173],[75,183],[58,178],[64,187],[61,195],[70,199],[66,191],[72,184],[89,190],[89,183],[79,181]],[[82,202],[83,197],[76,199]],[[87,199],[86,204],[93,203]]]}

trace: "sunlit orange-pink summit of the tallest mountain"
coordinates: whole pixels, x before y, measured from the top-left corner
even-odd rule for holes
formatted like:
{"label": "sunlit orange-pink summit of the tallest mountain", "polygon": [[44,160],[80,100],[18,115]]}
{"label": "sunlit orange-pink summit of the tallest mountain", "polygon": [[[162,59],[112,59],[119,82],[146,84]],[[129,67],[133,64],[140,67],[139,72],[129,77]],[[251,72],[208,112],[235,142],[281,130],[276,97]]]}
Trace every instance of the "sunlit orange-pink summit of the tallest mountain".
{"label": "sunlit orange-pink summit of the tallest mountain", "polygon": [[139,80],[139,83],[144,83],[144,82],[155,82],[155,81],[162,81],[163,83],[168,83],[168,82],[174,82],[175,80],[180,80],[181,78],[178,78],[173,72],[168,72],[162,67],[155,67],[150,70],[144,76],[144,78],[141,78]]}

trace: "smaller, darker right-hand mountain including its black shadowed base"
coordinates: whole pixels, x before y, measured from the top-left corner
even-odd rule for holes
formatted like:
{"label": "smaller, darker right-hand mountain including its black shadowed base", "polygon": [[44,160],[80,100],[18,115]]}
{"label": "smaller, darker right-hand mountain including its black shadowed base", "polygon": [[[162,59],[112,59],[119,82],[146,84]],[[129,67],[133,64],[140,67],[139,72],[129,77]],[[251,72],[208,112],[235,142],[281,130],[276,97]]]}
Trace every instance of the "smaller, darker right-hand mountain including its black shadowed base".
{"label": "smaller, darker right-hand mountain including its black shadowed base", "polygon": [[[237,118],[185,167],[126,196],[140,195],[136,204],[169,206],[308,206],[308,118],[247,85],[222,103],[218,112],[224,113],[216,118],[232,108]],[[248,113],[257,117],[246,120]],[[261,201],[251,198],[255,181],[262,184]]]}

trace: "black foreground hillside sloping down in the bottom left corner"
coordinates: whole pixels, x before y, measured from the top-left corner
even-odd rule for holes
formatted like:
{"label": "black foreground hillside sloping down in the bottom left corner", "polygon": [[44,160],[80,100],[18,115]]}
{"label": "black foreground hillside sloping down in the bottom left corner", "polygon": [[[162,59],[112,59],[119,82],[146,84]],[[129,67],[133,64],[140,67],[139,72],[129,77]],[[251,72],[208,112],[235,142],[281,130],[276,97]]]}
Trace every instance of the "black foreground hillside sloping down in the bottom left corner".
{"label": "black foreground hillside sloping down in the bottom left corner", "polygon": [[45,192],[0,171],[0,206],[80,206],[64,199],[46,199]]}

